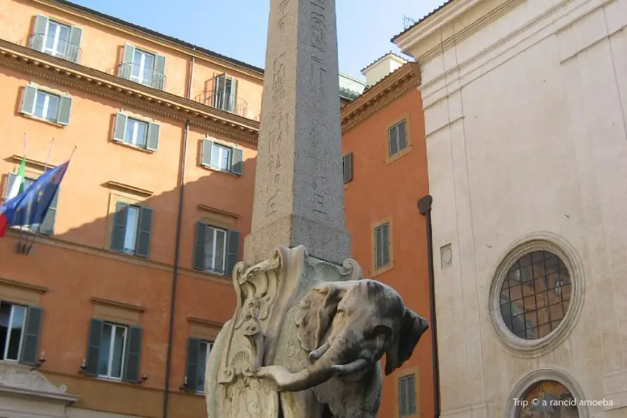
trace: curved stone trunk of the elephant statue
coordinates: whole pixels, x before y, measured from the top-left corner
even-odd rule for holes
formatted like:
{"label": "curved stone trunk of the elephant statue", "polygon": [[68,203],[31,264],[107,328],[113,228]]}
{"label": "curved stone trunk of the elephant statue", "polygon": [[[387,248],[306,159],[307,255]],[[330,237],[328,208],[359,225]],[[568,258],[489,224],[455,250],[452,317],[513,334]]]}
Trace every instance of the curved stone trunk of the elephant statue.
{"label": "curved stone trunk of the elephant statue", "polygon": [[255,374],[258,377],[274,380],[280,391],[300,392],[320,385],[339,374],[339,370],[334,366],[341,364],[343,350],[346,348],[339,343],[334,343],[318,361],[297,373],[291,373],[283,366],[266,366]]}

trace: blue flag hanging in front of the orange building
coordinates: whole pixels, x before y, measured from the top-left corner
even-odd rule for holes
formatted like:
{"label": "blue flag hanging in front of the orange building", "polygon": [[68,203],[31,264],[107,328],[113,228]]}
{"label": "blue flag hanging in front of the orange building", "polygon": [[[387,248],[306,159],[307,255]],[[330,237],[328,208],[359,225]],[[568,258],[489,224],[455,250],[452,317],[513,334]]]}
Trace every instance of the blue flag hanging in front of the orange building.
{"label": "blue flag hanging in front of the orange building", "polygon": [[0,206],[0,238],[9,226],[36,225],[43,222],[68,164],[70,161],[43,173],[31,187],[13,199],[7,199]]}

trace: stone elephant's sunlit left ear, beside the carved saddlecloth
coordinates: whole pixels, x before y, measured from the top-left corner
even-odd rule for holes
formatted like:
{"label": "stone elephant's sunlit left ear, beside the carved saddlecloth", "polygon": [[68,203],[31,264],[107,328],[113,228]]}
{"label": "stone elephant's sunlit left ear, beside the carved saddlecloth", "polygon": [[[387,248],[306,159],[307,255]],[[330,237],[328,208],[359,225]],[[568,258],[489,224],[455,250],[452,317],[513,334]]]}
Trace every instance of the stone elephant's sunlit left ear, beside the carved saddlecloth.
{"label": "stone elephant's sunlit left ear, beside the carved saddlecloth", "polygon": [[316,350],[322,345],[340,300],[337,293],[336,286],[328,283],[311,288],[300,301],[295,318],[296,334],[305,350]]}

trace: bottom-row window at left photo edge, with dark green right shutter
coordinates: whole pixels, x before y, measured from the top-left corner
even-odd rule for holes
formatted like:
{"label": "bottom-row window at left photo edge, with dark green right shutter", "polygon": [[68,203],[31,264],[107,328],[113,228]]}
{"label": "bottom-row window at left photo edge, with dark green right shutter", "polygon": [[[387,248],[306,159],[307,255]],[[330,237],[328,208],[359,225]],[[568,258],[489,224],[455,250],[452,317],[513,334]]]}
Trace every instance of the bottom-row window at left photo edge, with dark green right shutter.
{"label": "bottom-row window at left photo edge, with dark green right shutter", "polygon": [[42,309],[0,302],[0,359],[34,365],[37,362]]}

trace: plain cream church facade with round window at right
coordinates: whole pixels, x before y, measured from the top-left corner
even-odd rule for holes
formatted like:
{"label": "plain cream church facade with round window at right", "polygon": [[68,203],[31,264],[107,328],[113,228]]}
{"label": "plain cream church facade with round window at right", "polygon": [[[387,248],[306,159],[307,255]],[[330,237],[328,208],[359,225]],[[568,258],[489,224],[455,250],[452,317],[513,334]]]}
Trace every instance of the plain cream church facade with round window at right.
{"label": "plain cream church facade with round window at right", "polygon": [[394,38],[422,75],[442,417],[627,415],[626,27],[625,0],[451,0]]}

